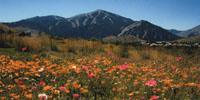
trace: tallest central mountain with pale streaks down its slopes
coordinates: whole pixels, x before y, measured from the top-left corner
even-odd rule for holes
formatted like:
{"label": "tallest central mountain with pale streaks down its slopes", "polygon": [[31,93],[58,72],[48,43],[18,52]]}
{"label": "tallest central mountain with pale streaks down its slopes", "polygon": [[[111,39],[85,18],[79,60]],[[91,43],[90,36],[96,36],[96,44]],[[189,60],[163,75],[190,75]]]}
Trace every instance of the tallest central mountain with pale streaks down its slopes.
{"label": "tallest central mountain with pale streaks down its slopes", "polygon": [[[84,38],[103,38],[117,35],[134,21],[104,10],[96,10],[67,19],[75,29],[74,34]],[[76,36],[77,37],[77,36]]]}

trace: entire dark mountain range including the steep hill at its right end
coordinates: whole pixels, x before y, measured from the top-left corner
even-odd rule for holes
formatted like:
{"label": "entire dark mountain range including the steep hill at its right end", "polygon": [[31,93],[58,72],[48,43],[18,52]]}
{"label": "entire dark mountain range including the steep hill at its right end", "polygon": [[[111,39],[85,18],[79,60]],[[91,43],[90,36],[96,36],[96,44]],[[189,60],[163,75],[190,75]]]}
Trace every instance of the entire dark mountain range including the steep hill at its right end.
{"label": "entire dark mountain range including the steep hill at its right end", "polygon": [[139,35],[142,39],[152,41],[178,38],[165,29],[147,21],[133,21],[105,10],[96,10],[70,18],[54,15],[37,16],[5,24],[11,27],[27,27],[65,38],[102,39],[107,36],[118,36],[127,33],[135,36]]}

